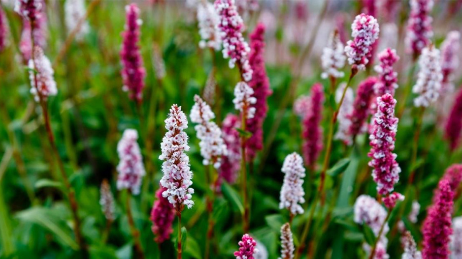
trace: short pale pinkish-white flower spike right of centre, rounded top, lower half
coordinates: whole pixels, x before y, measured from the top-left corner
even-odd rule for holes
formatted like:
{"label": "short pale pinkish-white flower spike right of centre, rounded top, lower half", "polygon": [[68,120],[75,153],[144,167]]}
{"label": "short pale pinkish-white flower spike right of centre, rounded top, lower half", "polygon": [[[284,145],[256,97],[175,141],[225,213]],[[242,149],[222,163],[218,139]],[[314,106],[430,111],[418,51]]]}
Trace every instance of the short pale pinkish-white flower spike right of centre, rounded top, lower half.
{"label": "short pale pinkish-white flower spike right of centre, rounded top, lower half", "polygon": [[286,156],[281,169],[284,173],[284,182],[280,194],[280,209],[288,209],[291,215],[303,214],[300,204],[305,202],[303,191],[303,177],[305,168],[303,160],[296,152]]}

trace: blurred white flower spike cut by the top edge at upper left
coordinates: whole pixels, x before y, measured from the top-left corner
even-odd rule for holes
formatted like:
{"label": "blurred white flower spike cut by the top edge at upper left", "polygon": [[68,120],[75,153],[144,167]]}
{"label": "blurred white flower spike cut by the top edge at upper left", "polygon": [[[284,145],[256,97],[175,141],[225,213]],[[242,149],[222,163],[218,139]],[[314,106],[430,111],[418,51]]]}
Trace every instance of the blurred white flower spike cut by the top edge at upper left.
{"label": "blurred white flower spike cut by the top edge at upper left", "polygon": [[[77,28],[79,21],[85,17],[85,1],[66,0],[64,4],[64,10],[66,13],[67,33],[71,33],[72,30]],[[77,41],[81,41],[89,31],[90,26],[88,25],[88,21],[84,21],[80,28],[77,30],[75,39]]]}

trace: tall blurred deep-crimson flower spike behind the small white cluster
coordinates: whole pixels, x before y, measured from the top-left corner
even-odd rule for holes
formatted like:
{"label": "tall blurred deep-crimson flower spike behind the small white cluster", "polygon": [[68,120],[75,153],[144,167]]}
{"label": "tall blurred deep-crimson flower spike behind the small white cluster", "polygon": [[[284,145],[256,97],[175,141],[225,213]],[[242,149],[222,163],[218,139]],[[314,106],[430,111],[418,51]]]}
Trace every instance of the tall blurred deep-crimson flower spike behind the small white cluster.
{"label": "tall blurred deep-crimson flower spike behind the small white cluster", "polygon": [[266,75],[264,64],[264,31],[265,27],[259,23],[250,34],[250,56],[249,62],[254,74],[249,86],[254,90],[253,96],[256,98],[255,116],[246,121],[246,130],[252,136],[246,141],[246,152],[250,158],[254,158],[257,150],[263,149],[263,122],[268,112],[267,98],[271,94],[269,79]]}

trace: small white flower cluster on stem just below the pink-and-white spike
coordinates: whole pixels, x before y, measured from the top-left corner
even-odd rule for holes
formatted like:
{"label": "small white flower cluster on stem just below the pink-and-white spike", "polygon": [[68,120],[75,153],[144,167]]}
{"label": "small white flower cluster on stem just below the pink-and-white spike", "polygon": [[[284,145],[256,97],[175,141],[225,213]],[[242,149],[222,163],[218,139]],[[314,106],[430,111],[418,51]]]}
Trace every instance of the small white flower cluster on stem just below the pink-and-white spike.
{"label": "small white flower cluster on stem just below the pink-and-white spike", "polygon": [[256,109],[253,107],[257,103],[257,98],[254,96],[254,90],[245,82],[237,83],[234,87],[234,109],[239,110],[246,119],[251,119],[255,116]]}

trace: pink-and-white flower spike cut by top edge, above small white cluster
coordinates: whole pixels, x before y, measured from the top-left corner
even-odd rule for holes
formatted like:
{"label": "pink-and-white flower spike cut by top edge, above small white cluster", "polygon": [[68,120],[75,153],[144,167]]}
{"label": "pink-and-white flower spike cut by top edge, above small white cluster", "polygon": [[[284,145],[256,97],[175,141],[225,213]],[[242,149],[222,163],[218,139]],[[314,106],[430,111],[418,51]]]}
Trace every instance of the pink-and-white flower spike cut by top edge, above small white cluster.
{"label": "pink-and-white flower spike cut by top edge, above small white cluster", "polygon": [[234,0],[215,0],[214,5],[220,16],[218,28],[223,41],[223,58],[230,58],[230,68],[237,63],[242,78],[248,82],[252,79],[253,71],[248,60],[250,47],[242,35],[244,21],[237,13]]}

